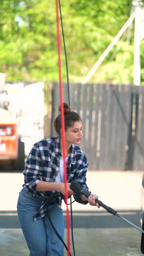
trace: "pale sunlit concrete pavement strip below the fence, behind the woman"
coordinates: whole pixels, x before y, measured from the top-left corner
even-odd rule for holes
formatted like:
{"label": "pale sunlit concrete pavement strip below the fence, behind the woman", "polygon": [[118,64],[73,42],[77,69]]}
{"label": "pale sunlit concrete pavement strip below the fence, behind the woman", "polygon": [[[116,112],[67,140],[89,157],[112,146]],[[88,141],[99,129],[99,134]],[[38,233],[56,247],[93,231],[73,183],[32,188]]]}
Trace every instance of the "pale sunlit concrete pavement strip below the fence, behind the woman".
{"label": "pale sunlit concrete pavement strip below the fence, behind the woman", "polygon": [[[99,196],[99,200],[116,210],[140,210],[143,172],[88,171],[87,185],[92,193]],[[22,173],[0,172],[0,194],[3,195],[4,193],[4,200],[1,199],[0,203],[0,211],[16,211],[17,197],[22,184]],[[65,210],[64,204],[63,209]],[[95,211],[95,207],[74,203],[73,210]]]}

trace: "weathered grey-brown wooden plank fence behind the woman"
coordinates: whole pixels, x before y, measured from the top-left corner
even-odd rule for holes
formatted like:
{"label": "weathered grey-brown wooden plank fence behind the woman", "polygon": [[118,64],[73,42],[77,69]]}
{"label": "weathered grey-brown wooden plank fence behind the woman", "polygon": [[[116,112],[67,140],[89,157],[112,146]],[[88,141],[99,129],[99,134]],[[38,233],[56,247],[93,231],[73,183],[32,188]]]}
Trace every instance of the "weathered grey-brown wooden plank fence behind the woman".
{"label": "weathered grey-brown wooden plank fence behind the woman", "polygon": [[[144,87],[70,84],[70,107],[83,120],[81,149],[89,170],[143,170]],[[63,101],[68,87],[63,84]],[[51,136],[58,114],[59,85],[52,85]]]}

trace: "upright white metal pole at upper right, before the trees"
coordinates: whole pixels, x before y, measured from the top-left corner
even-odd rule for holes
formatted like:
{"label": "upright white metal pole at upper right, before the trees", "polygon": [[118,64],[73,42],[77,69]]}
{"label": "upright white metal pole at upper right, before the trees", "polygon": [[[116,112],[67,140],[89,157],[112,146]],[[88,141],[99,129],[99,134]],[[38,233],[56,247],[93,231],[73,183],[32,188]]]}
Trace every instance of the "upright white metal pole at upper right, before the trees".
{"label": "upright white metal pole at upper right, before the trees", "polygon": [[135,85],[141,84],[141,63],[140,63],[140,25],[141,25],[141,0],[133,0],[135,8],[135,31],[134,31],[134,77]]}

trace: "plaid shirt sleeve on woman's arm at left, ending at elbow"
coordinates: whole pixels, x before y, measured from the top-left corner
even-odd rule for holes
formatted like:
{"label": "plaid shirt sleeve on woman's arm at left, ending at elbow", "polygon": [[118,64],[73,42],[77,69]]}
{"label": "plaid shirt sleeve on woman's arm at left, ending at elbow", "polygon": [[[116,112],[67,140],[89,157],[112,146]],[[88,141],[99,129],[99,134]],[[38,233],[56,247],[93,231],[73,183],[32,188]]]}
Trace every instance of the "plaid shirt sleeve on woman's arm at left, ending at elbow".
{"label": "plaid shirt sleeve on woman's arm at left, ending at elbow", "polygon": [[38,182],[43,180],[43,159],[36,144],[34,144],[28,155],[23,174],[25,176],[26,189],[30,193],[35,194]]}

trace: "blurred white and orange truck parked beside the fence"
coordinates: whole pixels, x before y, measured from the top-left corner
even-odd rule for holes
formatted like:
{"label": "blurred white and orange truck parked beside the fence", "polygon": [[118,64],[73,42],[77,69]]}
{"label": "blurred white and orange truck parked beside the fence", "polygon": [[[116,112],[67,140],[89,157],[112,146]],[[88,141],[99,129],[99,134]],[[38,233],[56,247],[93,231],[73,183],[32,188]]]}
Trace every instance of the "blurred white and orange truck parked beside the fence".
{"label": "blurred white and orange truck parked beside the fence", "polygon": [[33,144],[44,138],[44,83],[6,83],[0,91],[0,165],[23,169]]}

